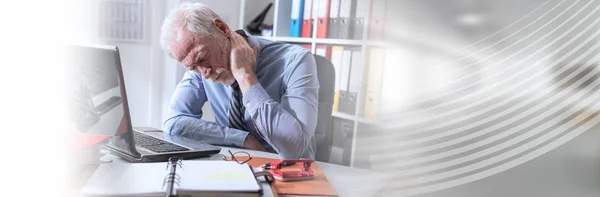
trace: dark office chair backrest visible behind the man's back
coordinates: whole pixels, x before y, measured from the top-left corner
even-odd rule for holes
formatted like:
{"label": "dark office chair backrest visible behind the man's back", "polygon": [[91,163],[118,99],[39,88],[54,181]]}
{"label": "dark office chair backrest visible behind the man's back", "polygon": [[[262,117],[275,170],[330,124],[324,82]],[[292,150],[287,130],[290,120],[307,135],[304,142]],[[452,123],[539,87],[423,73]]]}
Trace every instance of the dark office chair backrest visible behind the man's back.
{"label": "dark office chair backrest visible behind the man's back", "polygon": [[327,58],[320,55],[314,55],[314,57],[317,63],[317,75],[319,78],[319,111],[317,128],[315,130],[317,153],[315,160],[328,161],[333,135],[331,129],[331,110],[335,91],[335,68]]}

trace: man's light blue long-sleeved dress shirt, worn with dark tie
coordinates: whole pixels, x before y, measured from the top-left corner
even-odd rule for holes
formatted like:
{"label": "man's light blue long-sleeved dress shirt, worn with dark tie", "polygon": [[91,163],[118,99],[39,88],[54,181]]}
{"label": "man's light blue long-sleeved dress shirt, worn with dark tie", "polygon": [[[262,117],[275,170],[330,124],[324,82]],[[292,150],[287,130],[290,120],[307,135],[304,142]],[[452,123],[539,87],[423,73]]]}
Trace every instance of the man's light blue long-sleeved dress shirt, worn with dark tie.
{"label": "man's light blue long-sleeved dress shirt, worn with dark tie", "polygon": [[[243,146],[247,135],[252,135],[281,158],[314,158],[319,92],[315,59],[297,45],[253,36],[248,36],[248,43],[258,45],[259,81],[243,94],[243,121],[248,131],[228,126],[231,87],[205,80],[193,71],[187,71],[175,88],[164,130],[171,135],[217,139],[211,143],[238,147]],[[201,119],[206,101],[216,123]]]}

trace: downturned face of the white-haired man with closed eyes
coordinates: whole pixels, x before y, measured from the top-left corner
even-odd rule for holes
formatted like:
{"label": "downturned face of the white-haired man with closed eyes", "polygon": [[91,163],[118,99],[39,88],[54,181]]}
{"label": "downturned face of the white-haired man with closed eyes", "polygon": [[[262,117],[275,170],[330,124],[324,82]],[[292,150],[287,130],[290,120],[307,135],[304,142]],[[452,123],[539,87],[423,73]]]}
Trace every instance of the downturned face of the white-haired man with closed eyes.
{"label": "downturned face of the white-haired man with closed eyes", "polygon": [[181,40],[174,42],[171,49],[175,60],[205,79],[226,85],[235,81],[229,66],[231,42],[226,36],[197,37],[184,28]]}

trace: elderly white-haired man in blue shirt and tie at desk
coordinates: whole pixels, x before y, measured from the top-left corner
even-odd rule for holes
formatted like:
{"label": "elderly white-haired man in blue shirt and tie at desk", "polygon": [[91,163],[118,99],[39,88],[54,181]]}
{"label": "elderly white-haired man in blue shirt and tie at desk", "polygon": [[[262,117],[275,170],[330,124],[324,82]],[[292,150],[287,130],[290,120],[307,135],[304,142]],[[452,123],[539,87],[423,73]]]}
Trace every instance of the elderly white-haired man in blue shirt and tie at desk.
{"label": "elderly white-haired man in blue shirt and tie at desk", "polygon": [[[164,122],[170,134],[314,158],[319,83],[309,51],[232,31],[199,3],[167,16],[161,45],[188,70]],[[206,101],[216,123],[201,119]]]}

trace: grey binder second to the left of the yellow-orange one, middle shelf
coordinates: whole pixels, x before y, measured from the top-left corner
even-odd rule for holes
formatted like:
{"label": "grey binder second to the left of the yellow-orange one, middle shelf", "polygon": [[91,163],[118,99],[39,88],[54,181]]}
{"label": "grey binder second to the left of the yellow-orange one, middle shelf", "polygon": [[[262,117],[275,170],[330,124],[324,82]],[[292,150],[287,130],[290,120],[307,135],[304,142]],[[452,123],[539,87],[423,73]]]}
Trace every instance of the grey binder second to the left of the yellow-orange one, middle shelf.
{"label": "grey binder second to the left of the yellow-orange one, middle shelf", "polygon": [[342,113],[350,114],[350,103],[348,92],[348,86],[350,85],[350,66],[352,63],[352,51],[344,49],[342,55],[342,68],[340,72],[340,97],[339,97],[339,111]]}

